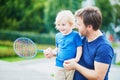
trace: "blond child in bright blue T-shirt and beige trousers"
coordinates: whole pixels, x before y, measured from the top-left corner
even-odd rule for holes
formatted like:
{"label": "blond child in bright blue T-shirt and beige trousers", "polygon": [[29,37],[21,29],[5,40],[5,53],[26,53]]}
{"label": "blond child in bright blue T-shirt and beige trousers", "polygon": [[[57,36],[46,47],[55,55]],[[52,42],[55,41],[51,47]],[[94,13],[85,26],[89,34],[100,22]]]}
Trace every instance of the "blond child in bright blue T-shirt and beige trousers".
{"label": "blond child in bright blue T-shirt and beige trousers", "polygon": [[73,80],[74,70],[65,70],[65,60],[79,61],[82,54],[82,41],[80,35],[73,31],[74,15],[69,10],[60,11],[57,14],[55,25],[59,33],[56,34],[56,48],[48,48],[45,56],[50,58],[56,55],[55,80]]}

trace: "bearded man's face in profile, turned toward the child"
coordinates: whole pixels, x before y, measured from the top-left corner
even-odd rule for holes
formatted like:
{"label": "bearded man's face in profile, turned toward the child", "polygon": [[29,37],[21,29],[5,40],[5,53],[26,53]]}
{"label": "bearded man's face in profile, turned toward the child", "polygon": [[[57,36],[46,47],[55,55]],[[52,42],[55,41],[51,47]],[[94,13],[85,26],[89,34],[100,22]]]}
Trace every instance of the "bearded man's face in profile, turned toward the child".
{"label": "bearded man's face in profile, turned toward the child", "polygon": [[87,28],[83,23],[83,19],[80,17],[76,17],[76,26],[78,29],[78,32],[82,35],[82,36],[86,36],[87,35]]}

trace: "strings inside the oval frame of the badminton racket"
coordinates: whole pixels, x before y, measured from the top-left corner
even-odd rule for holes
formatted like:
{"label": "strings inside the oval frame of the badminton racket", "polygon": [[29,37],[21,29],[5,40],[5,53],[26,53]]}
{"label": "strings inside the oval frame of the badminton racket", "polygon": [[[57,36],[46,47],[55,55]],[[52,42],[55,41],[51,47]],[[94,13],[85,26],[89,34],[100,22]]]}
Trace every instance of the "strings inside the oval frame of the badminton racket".
{"label": "strings inside the oval frame of the badminton racket", "polygon": [[30,40],[20,39],[15,42],[16,53],[25,58],[36,55],[36,46]]}

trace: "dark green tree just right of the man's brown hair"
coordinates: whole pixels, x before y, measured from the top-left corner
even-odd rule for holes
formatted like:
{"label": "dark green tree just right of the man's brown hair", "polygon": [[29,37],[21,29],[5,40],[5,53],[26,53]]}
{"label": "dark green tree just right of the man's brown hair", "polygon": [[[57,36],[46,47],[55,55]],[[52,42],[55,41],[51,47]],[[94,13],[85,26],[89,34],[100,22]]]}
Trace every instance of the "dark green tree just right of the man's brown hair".
{"label": "dark green tree just right of the man's brown hair", "polygon": [[95,6],[99,7],[102,12],[102,30],[106,32],[110,29],[110,23],[113,22],[113,8],[110,0],[95,0]]}

